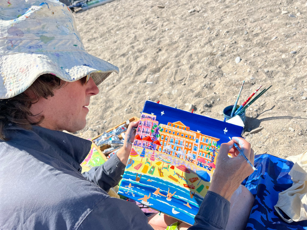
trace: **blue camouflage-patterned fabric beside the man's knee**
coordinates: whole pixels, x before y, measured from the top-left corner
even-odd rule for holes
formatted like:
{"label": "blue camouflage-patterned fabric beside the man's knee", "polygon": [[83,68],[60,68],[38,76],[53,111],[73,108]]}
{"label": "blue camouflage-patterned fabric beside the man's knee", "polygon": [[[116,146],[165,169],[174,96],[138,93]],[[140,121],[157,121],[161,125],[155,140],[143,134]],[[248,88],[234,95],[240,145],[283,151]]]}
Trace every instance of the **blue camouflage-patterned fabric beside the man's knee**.
{"label": "blue camouflage-patterned fabric beside the man's knee", "polygon": [[242,183],[255,196],[246,229],[307,229],[307,220],[288,224],[279,218],[274,209],[278,194],[293,184],[289,176],[293,162],[263,154],[255,156],[254,164],[257,171]]}

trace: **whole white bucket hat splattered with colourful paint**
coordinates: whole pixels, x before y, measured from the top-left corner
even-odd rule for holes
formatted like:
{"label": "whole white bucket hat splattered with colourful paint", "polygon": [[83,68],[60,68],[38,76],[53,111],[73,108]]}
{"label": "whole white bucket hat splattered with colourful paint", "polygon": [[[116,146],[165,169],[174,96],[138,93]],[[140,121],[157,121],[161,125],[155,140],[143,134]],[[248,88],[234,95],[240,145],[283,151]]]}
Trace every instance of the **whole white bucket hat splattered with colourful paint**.
{"label": "whole white bucket hat splattered with colourful paint", "polygon": [[96,85],[118,67],[88,54],[71,11],[56,0],[0,1],[0,99],[25,91],[40,75]]}

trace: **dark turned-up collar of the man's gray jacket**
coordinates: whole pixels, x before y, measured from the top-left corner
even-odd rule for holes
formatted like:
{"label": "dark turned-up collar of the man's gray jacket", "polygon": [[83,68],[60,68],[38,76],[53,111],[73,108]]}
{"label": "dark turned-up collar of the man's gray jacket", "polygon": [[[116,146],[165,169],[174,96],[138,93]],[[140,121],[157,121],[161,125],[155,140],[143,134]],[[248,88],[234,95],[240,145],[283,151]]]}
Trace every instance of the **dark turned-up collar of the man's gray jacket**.
{"label": "dark turned-up collar of the man's gray jacket", "polygon": [[23,129],[16,126],[6,128],[8,143],[16,146],[25,146],[44,152],[60,160],[64,160],[80,171],[80,164],[91,149],[92,142],[69,133],[50,130],[37,125],[32,129]]}

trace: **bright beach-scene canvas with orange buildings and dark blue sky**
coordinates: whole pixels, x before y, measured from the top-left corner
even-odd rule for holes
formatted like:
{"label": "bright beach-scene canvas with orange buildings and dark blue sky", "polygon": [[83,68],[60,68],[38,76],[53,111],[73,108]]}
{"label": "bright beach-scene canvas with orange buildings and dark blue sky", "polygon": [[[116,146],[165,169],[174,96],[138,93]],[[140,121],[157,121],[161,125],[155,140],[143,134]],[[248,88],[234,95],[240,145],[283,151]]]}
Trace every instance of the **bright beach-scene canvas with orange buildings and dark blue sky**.
{"label": "bright beach-scene canvas with orange buildings and dark blue sky", "polygon": [[243,127],[146,101],[119,194],[189,224],[208,191],[221,143]]}

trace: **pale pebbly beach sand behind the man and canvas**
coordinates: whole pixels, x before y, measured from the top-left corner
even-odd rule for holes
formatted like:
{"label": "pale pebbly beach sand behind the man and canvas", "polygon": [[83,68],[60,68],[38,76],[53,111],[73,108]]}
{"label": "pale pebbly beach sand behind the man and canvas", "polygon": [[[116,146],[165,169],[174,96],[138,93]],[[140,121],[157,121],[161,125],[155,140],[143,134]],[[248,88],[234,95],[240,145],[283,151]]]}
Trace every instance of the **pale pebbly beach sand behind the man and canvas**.
{"label": "pale pebbly beach sand behind the man and canvas", "polygon": [[[307,2],[116,0],[74,13],[86,50],[119,67],[92,97],[92,138],[133,116],[145,100],[223,120],[262,85],[243,136],[256,154],[307,150]],[[235,59],[241,61],[236,63]],[[211,104],[211,105],[210,105]],[[255,128],[260,132],[250,134]]]}

